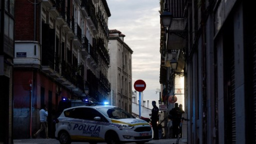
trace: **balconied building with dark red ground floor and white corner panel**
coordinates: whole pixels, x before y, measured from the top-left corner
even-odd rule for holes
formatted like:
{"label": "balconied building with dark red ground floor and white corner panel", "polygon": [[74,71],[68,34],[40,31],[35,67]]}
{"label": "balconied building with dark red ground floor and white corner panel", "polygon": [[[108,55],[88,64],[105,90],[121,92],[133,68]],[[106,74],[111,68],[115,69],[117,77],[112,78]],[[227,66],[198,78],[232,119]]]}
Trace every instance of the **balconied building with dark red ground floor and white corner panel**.
{"label": "balconied building with dark red ground floor and white corner panel", "polygon": [[[14,51],[14,138],[31,138],[38,111],[49,109],[49,137],[61,98],[108,99],[110,83],[107,2],[16,1]],[[38,137],[44,137],[39,135]]]}

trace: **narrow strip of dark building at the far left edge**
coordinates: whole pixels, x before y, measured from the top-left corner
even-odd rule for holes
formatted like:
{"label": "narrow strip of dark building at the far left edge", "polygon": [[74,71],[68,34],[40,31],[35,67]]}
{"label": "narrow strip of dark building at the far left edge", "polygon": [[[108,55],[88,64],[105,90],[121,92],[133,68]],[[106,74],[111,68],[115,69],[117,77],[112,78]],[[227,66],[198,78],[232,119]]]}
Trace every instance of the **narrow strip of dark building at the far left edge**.
{"label": "narrow strip of dark building at the far left edge", "polygon": [[0,143],[13,143],[14,1],[0,2]]}

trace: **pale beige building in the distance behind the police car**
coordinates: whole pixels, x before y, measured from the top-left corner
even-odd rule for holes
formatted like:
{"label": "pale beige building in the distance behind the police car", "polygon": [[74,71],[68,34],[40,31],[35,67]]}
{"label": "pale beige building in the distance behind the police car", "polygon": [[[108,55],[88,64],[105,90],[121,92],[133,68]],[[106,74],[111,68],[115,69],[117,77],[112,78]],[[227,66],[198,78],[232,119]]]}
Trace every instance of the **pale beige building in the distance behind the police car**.
{"label": "pale beige building in the distance behind the police car", "polygon": [[132,49],[119,30],[109,30],[111,105],[132,113]]}

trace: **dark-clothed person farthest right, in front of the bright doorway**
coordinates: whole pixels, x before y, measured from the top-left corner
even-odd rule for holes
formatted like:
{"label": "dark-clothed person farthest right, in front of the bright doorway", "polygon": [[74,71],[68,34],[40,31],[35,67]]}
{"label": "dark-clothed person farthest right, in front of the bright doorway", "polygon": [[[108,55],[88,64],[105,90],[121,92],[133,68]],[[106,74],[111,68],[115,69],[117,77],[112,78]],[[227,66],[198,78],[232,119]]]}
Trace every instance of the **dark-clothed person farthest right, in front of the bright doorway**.
{"label": "dark-clothed person farthest right, in front of the bright doorway", "polygon": [[169,111],[169,115],[171,116],[171,120],[172,120],[172,130],[173,130],[172,138],[177,138],[179,135],[179,125],[180,125],[180,121],[183,113],[184,111],[180,110],[180,108],[178,107],[178,103],[175,103],[174,108],[172,108]]}

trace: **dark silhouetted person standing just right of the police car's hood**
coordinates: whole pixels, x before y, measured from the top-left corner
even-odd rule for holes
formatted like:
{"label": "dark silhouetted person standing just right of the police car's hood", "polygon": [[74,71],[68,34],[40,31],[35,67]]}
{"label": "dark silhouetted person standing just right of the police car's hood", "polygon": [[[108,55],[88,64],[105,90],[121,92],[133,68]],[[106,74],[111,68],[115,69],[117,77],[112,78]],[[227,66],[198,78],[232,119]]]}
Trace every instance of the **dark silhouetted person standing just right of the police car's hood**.
{"label": "dark silhouetted person standing just right of the police car's hood", "polygon": [[152,101],[152,106],[153,109],[151,110],[151,114],[149,114],[151,116],[151,124],[153,127],[153,131],[154,131],[154,138],[153,140],[159,140],[158,138],[158,128],[157,128],[157,121],[158,121],[158,107],[156,106],[156,101]]}

